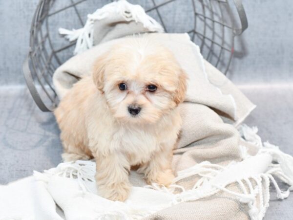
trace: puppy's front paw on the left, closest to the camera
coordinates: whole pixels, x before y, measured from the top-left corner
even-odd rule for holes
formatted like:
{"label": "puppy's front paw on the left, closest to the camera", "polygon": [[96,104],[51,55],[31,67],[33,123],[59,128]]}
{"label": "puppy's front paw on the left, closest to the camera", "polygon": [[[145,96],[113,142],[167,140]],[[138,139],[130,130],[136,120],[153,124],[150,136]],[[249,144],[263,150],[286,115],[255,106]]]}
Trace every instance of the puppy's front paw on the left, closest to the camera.
{"label": "puppy's front paw on the left, closest to the camera", "polygon": [[111,186],[98,186],[102,197],[113,201],[125,201],[128,198],[130,185],[128,183],[115,183]]}

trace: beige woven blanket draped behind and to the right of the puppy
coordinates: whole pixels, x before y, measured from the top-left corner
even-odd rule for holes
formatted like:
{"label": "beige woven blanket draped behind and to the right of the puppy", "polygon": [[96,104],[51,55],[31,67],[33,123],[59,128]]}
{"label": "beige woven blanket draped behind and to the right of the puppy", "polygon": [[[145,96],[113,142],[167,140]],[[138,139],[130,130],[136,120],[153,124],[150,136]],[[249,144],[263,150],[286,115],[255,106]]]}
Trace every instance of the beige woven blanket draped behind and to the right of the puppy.
{"label": "beige woven blanket draped behind and to the right of the puppy", "polygon": [[[106,19],[107,17],[103,21],[104,27]],[[108,26],[115,27],[112,20],[108,23]],[[127,26],[126,23],[123,26]],[[137,28],[137,25],[135,26]],[[123,43],[124,38],[121,38],[119,29],[117,33],[112,30],[109,41],[101,40],[99,33],[95,32],[96,39],[100,39],[98,42],[104,42],[103,44],[72,57],[56,70],[53,83],[60,99],[79,78],[91,74],[91,66],[97,57],[112,45]],[[139,31],[136,29],[135,32]],[[284,156],[279,151],[275,153],[276,150],[272,150],[269,145],[262,147],[261,142],[255,144],[253,141],[257,141],[258,138],[253,130],[244,129],[240,133],[236,129],[255,105],[226,76],[203,59],[199,47],[190,41],[188,34],[151,33],[144,37],[167,46],[189,77],[186,100],[180,106],[183,119],[182,133],[173,158],[174,171],[181,176],[178,181],[176,180],[174,193],[180,193],[182,190],[186,192],[179,194],[180,202],[174,202],[173,206],[146,219],[262,219],[268,207],[268,181],[271,179],[270,175],[276,173],[271,170],[272,159],[283,161],[283,166],[276,168],[277,174],[286,176],[286,172],[289,172],[289,177],[284,177],[283,180],[287,179],[285,182],[293,185],[292,179],[290,180],[290,177],[293,178],[293,175],[290,176],[292,168],[288,168],[288,163],[293,163],[292,157]],[[241,135],[249,141],[245,141]],[[272,155],[268,157],[271,165],[263,160],[259,162],[263,169],[254,170],[246,164],[245,169],[230,173],[225,183],[210,185],[215,188],[207,190],[209,193],[199,195],[198,192],[201,191],[192,191],[205,186],[206,182],[212,182],[215,174],[223,173],[223,167],[231,166],[231,162],[237,163],[261,153]],[[280,160],[285,157],[286,159]],[[213,164],[212,168],[220,170],[211,169],[211,165],[205,164],[206,161]],[[197,168],[204,171],[198,172]],[[242,176],[233,178],[233,175],[237,176],[242,172]],[[185,175],[186,177],[182,177]],[[141,186],[143,182],[138,178],[132,177],[132,182]],[[279,196],[282,197],[282,194],[279,193]]]}

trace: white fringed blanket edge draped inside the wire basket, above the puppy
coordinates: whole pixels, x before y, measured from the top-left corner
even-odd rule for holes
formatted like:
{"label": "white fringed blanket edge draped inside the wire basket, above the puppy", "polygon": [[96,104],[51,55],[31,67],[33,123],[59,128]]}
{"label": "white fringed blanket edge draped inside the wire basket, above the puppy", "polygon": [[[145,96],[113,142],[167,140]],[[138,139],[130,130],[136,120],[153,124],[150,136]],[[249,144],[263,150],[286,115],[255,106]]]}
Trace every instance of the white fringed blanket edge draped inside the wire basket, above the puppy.
{"label": "white fringed blanket edge draped inside the wire basket, above the puppy", "polygon": [[59,33],[65,35],[70,42],[77,40],[74,54],[84,52],[93,46],[94,22],[105,18],[121,15],[126,22],[140,22],[151,32],[164,32],[163,27],[153,18],[146,15],[145,10],[140,5],[133,5],[126,0],[114,1],[99,8],[93,14],[87,15],[87,21],[83,28],[64,29],[59,28]]}

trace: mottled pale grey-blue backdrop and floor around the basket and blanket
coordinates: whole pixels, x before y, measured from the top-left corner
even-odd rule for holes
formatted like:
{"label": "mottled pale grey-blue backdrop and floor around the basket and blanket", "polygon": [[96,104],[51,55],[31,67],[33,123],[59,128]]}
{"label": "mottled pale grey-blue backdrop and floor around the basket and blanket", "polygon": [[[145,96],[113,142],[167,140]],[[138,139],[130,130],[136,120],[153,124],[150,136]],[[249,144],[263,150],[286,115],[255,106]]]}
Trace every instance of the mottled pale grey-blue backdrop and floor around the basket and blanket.
{"label": "mottled pale grey-blue backdrop and floor around the basket and blanket", "polygon": [[[0,184],[61,161],[54,117],[36,108],[22,77],[37,3],[0,0]],[[264,140],[293,154],[293,1],[243,4],[249,28],[236,39],[228,77],[258,106],[246,123],[257,125]],[[274,200],[266,219],[293,219],[292,205],[292,197]]]}

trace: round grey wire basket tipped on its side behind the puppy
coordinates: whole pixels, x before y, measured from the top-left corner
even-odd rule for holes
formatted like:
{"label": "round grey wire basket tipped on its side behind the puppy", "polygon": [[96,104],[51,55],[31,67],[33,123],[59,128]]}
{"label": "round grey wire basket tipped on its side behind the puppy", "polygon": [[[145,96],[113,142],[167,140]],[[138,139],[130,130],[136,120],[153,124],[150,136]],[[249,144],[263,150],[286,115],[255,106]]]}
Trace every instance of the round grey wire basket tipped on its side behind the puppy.
{"label": "round grey wire basket tipped on its side behind the puppy", "polygon": [[[40,0],[31,30],[30,48],[23,63],[30,93],[42,111],[52,111],[59,100],[52,84],[56,68],[73,55],[75,42],[58,28],[80,28],[87,14],[111,0]],[[234,52],[234,37],[248,26],[241,0],[129,0],[140,4],[166,32],[190,35],[204,58],[226,73]],[[78,26],[80,25],[80,27]],[[236,27],[240,26],[240,28]]]}

